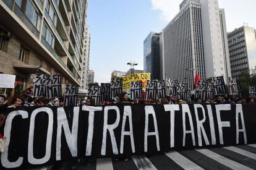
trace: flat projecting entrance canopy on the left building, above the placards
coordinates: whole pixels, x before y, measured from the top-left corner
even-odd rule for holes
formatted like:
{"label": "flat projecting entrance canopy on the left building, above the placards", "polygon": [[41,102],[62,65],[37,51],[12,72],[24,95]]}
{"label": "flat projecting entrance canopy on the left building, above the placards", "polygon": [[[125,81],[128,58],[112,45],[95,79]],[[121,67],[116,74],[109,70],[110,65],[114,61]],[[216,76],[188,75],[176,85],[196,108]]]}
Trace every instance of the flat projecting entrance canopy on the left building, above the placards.
{"label": "flat projecting entrance canopy on the left building, above the placards", "polygon": [[14,65],[15,69],[19,69],[22,72],[28,73],[28,74],[48,74],[51,73],[48,72],[48,70],[43,69],[42,66],[31,66],[31,65]]}

